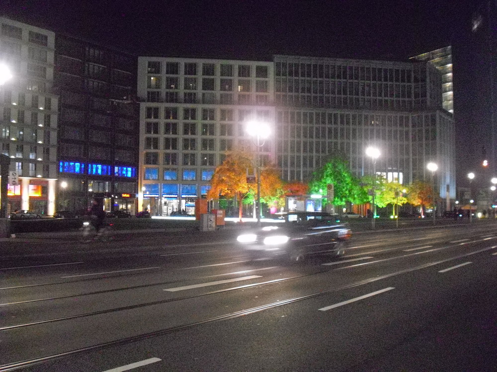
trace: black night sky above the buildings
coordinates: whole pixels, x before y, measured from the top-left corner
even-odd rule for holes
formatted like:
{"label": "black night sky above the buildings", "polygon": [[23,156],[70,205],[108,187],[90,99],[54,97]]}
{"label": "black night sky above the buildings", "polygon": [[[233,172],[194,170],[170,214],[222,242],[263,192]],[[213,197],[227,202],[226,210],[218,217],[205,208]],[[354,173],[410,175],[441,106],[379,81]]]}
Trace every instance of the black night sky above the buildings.
{"label": "black night sky above the buildings", "polygon": [[[479,0],[2,0],[11,18],[137,55],[271,61],[274,54],[407,60],[452,45],[458,173],[481,157],[471,97]],[[473,140],[474,151],[465,141]],[[476,142],[475,142],[476,141]]]}

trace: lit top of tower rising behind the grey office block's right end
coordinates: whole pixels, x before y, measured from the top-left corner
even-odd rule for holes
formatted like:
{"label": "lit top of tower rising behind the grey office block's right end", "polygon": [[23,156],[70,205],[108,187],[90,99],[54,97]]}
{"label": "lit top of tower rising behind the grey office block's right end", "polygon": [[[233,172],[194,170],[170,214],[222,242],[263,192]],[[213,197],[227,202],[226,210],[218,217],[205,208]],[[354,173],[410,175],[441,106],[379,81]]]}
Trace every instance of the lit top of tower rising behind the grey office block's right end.
{"label": "lit top of tower rising behind the grey office block's right end", "polygon": [[431,52],[411,57],[415,61],[429,61],[442,74],[442,106],[454,114],[454,86],[452,83],[452,47],[449,45]]}

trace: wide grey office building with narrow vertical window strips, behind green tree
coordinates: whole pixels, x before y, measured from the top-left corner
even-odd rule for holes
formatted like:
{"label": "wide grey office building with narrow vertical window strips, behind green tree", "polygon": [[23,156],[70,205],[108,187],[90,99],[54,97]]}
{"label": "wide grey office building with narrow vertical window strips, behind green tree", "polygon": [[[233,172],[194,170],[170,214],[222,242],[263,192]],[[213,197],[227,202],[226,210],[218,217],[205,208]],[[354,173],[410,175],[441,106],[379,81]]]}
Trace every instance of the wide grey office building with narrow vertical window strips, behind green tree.
{"label": "wide grey office building with narrow vertical window strips, behind green tree", "polygon": [[455,197],[454,123],[442,109],[442,76],[429,62],[274,57],[277,164],[286,180],[307,180],[329,154],[371,174],[365,149],[381,152],[376,171],[389,181],[430,179]]}

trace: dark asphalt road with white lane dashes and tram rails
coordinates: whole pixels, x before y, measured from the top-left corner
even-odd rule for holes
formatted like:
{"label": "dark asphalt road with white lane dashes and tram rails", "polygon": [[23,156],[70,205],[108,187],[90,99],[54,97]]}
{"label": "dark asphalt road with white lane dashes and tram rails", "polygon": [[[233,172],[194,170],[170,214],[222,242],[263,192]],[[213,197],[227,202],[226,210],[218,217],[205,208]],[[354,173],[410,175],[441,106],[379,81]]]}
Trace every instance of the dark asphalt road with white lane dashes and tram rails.
{"label": "dark asphalt road with white lane dashes and tram rails", "polygon": [[497,222],[249,261],[237,229],[2,241],[0,371],[497,371]]}

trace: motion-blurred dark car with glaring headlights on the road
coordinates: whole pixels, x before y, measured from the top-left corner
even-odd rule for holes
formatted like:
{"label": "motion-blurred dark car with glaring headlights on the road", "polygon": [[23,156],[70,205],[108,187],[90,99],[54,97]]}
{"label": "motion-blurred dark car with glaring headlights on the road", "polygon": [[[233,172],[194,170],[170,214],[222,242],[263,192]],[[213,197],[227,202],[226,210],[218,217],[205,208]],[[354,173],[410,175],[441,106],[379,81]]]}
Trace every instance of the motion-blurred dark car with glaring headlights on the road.
{"label": "motion-blurred dark car with glaring headlights on the road", "polygon": [[237,237],[251,258],[281,255],[301,261],[308,255],[345,253],[350,229],[338,215],[324,212],[288,212],[283,222],[249,230]]}

